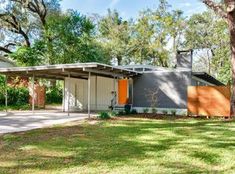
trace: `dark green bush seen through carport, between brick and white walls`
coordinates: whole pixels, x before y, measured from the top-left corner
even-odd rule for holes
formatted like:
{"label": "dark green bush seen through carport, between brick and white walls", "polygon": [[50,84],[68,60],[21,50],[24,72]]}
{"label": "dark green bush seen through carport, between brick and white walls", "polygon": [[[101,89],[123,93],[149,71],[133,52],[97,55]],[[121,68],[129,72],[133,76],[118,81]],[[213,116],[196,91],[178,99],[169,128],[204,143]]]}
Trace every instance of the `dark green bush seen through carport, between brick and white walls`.
{"label": "dark green bush seen through carport, between brick and white walls", "polygon": [[47,104],[61,104],[63,100],[63,92],[59,87],[51,87],[46,91]]}

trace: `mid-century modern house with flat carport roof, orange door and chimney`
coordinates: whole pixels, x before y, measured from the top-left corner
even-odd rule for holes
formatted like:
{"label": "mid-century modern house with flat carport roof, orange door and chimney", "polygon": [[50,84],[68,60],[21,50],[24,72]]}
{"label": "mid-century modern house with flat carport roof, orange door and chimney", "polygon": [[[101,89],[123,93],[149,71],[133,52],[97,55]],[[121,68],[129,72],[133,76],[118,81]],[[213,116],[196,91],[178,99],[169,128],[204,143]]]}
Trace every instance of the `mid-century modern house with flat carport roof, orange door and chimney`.
{"label": "mid-century modern house with flat carport roof, orange door and chimney", "polygon": [[154,66],[109,66],[78,63],[37,67],[1,68],[0,74],[64,81],[63,111],[91,111],[123,108],[129,104],[138,112],[187,112],[188,86],[221,86],[207,73],[192,72],[192,51],[178,52],[174,69]]}

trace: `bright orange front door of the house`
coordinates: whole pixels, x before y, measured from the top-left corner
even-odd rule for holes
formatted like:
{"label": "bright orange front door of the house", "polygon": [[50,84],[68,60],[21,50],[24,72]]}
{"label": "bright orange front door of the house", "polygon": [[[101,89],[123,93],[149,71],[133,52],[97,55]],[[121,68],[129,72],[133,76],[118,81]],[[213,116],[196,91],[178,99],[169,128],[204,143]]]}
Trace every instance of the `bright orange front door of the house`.
{"label": "bright orange front door of the house", "polygon": [[118,81],[118,104],[125,105],[128,103],[128,80]]}

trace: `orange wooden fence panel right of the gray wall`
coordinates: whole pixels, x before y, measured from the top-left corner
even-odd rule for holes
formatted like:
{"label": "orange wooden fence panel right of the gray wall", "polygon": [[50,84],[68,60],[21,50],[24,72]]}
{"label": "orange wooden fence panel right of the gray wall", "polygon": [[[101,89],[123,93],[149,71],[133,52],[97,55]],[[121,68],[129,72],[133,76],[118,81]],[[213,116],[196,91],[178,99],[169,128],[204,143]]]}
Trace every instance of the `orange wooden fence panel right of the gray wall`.
{"label": "orange wooden fence panel right of the gray wall", "polygon": [[198,116],[230,116],[229,86],[189,86],[188,112]]}

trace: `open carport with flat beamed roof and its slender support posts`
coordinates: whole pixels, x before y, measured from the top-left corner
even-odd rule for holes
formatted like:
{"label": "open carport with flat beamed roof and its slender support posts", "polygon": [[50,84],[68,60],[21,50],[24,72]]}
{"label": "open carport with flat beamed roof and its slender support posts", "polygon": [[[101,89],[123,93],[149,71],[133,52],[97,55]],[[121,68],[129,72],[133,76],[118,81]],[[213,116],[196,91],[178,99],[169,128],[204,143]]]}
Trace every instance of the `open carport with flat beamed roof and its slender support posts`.
{"label": "open carport with flat beamed roof and its slender support posts", "polygon": [[[87,80],[88,92],[87,92],[87,112],[88,117],[91,115],[91,76],[101,76],[112,78],[114,82],[118,79],[131,79],[134,76],[140,75],[139,72],[123,69],[120,67],[109,66],[100,63],[77,63],[77,64],[60,64],[60,65],[48,65],[48,66],[33,66],[33,67],[13,67],[13,68],[0,68],[0,74],[6,76],[6,85],[8,77],[31,77],[32,88],[34,89],[35,79],[55,79],[64,80],[65,78],[75,78]],[[65,88],[65,87],[64,87]],[[68,83],[70,89],[70,83]],[[116,91],[116,89],[113,89]],[[133,92],[133,90],[132,90]],[[133,94],[132,94],[133,95]],[[67,114],[70,115],[70,90],[67,90],[64,98],[67,97]],[[7,90],[5,93],[6,108],[7,102]],[[32,112],[35,110],[35,94],[33,90],[32,94]],[[63,111],[65,103],[63,102]],[[7,112],[7,109],[6,109]]]}

